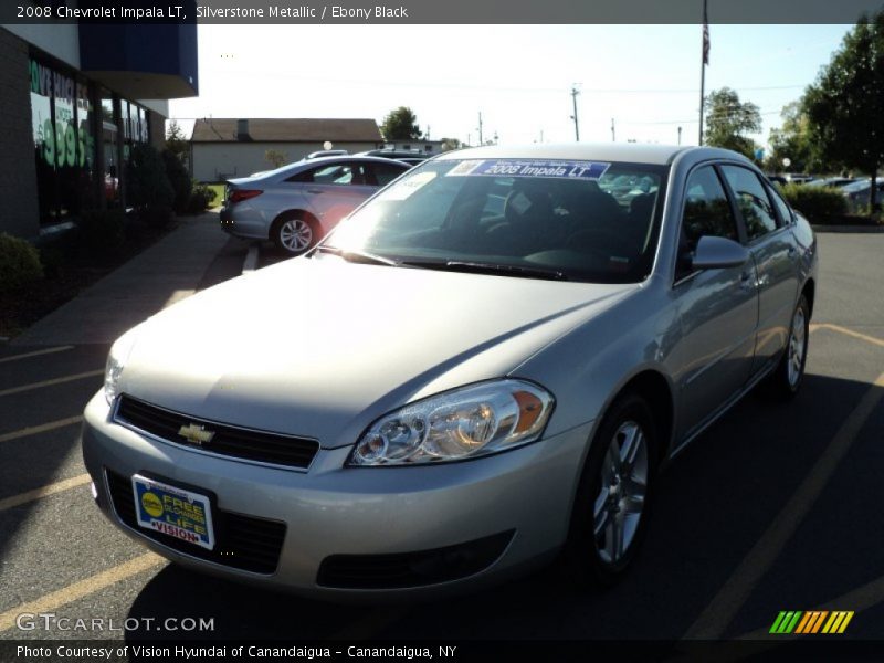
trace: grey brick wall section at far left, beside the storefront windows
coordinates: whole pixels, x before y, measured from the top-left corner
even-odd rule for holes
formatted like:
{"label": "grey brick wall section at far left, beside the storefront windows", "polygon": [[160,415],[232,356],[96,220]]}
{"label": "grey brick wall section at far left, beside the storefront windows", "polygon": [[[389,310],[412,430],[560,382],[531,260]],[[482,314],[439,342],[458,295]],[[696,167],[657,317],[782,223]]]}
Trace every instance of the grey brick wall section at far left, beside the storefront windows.
{"label": "grey brick wall section at far left, beside the storefront windows", "polygon": [[40,231],[28,45],[0,28],[0,232]]}

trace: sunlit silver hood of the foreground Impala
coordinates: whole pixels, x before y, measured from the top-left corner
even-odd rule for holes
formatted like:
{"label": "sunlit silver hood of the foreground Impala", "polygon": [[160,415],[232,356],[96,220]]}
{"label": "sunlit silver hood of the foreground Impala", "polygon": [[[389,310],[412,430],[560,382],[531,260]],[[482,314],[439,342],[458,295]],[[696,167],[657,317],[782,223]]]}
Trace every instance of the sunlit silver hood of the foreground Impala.
{"label": "sunlit silver hood of the foreground Impala", "polygon": [[507,375],[636,287],[294,259],[144,323],[119,387],[336,448],[406,402]]}

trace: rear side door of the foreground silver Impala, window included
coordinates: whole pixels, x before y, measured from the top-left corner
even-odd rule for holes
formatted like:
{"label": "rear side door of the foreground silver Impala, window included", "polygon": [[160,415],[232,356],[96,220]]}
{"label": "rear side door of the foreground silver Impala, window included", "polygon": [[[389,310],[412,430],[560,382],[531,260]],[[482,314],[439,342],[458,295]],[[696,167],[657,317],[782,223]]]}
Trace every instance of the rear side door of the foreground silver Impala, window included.
{"label": "rear side door of the foreground silver Impala, window included", "polygon": [[779,218],[772,193],[754,170],[726,165],[722,173],[737,203],[758,273],[755,373],[775,361],[786,347],[798,297],[798,248],[788,220]]}

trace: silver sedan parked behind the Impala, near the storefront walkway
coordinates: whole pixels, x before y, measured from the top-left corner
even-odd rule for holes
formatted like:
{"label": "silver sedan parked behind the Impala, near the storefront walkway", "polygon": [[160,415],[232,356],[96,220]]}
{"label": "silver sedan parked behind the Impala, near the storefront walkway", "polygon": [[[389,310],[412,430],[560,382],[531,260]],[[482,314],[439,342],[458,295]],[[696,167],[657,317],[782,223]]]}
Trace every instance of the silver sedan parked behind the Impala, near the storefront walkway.
{"label": "silver sedan parked behind the Impala, near the storefront walkway", "polygon": [[378,188],[409,169],[393,159],[335,155],[228,180],[221,228],[298,255]]}

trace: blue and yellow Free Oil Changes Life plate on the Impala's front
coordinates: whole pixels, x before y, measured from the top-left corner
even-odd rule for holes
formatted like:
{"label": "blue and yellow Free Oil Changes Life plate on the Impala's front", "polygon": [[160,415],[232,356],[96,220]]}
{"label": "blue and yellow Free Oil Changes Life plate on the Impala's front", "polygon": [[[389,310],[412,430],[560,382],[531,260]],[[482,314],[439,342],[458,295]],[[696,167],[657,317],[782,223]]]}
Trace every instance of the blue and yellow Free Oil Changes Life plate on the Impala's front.
{"label": "blue and yellow Free Oil Changes Life plate on the Impala's front", "polygon": [[214,548],[212,506],[207,495],[136,474],[131,477],[138,526],[207,550]]}

